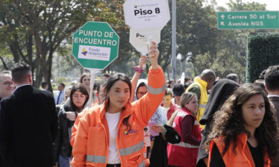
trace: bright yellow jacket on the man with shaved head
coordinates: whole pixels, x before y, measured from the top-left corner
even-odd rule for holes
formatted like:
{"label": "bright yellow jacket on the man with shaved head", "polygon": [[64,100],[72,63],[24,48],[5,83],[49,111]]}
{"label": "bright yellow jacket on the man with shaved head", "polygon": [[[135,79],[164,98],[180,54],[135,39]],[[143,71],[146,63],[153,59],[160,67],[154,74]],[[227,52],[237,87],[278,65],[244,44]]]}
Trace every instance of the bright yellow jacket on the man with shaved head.
{"label": "bright yellow jacket on the man with shaved head", "polygon": [[[199,100],[199,109],[197,110],[197,121],[199,122],[199,120],[202,118],[202,115],[204,115],[204,109],[206,107],[207,101],[209,101],[209,95],[207,94],[207,83],[206,81],[196,78],[194,79],[194,83],[190,84],[190,86],[186,89],[186,92],[188,92],[188,90],[190,88],[192,88],[194,85],[199,86],[199,90],[201,91],[201,97]],[[200,125],[199,127],[201,127],[202,129],[204,129],[204,125]]]}

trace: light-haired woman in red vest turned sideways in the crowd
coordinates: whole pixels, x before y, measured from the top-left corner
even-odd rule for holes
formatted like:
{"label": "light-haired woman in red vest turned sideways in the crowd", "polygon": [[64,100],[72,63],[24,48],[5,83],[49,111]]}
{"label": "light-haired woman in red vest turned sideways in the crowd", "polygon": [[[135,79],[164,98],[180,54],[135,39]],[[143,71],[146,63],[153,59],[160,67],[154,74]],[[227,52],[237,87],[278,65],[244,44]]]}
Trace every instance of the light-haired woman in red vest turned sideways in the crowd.
{"label": "light-haired woman in red vest turned sideways in the crowd", "polygon": [[172,114],[169,125],[181,136],[181,142],[167,145],[168,164],[170,166],[195,167],[199,144],[202,140],[202,129],[195,117],[198,102],[195,93],[187,92],[181,95],[181,109]]}

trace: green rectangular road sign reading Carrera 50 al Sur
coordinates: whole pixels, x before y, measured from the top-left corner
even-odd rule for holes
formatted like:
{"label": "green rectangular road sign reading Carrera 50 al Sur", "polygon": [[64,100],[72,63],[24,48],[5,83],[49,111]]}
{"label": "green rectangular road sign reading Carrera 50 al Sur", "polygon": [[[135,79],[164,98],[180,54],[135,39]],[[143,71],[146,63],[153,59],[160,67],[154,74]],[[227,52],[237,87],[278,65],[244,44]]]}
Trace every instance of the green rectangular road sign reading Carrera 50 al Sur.
{"label": "green rectangular road sign reading Carrera 50 al Sur", "polygon": [[218,29],[279,29],[279,11],[218,12]]}

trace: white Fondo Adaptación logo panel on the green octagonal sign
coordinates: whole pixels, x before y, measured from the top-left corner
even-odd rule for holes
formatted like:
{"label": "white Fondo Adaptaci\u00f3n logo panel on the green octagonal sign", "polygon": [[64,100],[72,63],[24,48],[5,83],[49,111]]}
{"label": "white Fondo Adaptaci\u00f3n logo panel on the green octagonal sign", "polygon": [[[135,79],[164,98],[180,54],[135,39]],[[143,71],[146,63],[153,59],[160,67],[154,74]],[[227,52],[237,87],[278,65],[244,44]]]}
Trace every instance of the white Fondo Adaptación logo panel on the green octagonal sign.
{"label": "white Fondo Adaptaci\u00f3n logo panel on the green octagonal sign", "polygon": [[80,45],[78,58],[110,61],[110,47]]}

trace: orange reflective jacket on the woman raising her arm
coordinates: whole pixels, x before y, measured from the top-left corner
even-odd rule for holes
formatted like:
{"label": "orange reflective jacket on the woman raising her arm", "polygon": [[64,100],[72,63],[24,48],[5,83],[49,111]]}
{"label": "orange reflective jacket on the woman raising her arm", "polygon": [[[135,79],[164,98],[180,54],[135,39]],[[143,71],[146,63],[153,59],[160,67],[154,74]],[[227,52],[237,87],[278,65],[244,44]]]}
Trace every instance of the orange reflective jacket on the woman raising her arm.
{"label": "orange reflective jacket on the woman raising her arm", "polygon": [[[144,167],[144,127],[162,102],[165,95],[163,70],[149,70],[148,93],[140,100],[124,106],[119,118],[116,146],[121,166]],[[109,129],[105,118],[106,104],[95,106],[80,118],[71,165],[105,167],[109,150]],[[129,116],[130,130],[123,125]]]}

